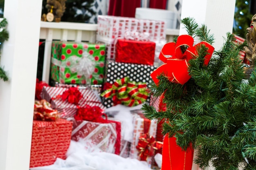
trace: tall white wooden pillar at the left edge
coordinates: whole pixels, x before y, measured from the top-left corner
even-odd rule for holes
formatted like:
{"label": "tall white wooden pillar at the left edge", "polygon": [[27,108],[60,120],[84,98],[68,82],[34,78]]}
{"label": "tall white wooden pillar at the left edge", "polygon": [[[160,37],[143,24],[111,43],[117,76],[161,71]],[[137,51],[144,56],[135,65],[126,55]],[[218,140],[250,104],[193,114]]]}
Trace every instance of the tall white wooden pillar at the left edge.
{"label": "tall white wooden pillar at the left edge", "polygon": [[5,0],[0,65],[0,170],[29,170],[42,0]]}

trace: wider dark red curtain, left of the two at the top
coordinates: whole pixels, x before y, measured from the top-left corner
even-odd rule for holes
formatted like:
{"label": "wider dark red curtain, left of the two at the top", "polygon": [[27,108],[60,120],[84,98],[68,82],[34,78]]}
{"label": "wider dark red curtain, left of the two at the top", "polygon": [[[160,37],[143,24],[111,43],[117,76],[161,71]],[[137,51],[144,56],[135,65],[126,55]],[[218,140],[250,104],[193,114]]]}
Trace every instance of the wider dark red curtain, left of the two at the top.
{"label": "wider dark red curtain, left of the two at the top", "polygon": [[108,15],[134,18],[137,7],[141,7],[141,0],[110,0]]}

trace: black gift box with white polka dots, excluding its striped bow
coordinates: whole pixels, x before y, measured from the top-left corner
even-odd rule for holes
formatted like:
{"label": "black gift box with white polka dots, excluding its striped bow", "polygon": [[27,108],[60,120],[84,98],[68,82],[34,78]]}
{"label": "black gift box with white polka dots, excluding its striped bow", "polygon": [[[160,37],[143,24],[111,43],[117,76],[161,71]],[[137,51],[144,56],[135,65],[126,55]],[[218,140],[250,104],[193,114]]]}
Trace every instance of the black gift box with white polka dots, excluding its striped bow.
{"label": "black gift box with white polka dots, excluding its striped bow", "polygon": [[[152,82],[150,74],[156,68],[156,66],[146,64],[130,64],[111,61],[106,64],[104,83],[113,84],[117,79],[129,77],[130,81],[144,82],[149,84]],[[148,97],[147,102],[150,102],[150,97]],[[112,99],[102,97],[102,103],[107,108],[113,106]]]}

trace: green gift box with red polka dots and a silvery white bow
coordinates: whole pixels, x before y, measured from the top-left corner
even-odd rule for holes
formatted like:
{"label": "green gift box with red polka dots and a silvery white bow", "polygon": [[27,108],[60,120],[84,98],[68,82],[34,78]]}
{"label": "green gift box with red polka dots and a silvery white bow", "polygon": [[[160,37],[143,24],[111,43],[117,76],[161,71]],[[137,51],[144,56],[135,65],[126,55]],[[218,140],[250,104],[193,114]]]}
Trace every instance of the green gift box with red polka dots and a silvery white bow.
{"label": "green gift box with red polka dots and a silvery white bow", "polygon": [[52,42],[51,78],[62,84],[102,84],[105,44]]}

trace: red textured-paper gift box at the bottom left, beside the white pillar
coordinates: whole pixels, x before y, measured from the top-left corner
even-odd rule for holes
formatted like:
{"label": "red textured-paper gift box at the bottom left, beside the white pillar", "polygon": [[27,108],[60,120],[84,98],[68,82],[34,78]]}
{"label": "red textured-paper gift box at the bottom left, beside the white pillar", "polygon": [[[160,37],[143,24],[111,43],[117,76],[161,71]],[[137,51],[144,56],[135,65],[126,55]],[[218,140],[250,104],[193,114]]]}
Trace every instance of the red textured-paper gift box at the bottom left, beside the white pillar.
{"label": "red textured-paper gift box at the bottom left, beside the white pillar", "polygon": [[30,168],[51,165],[56,158],[65,159],[70,146],[72,122],[33,121]]}

